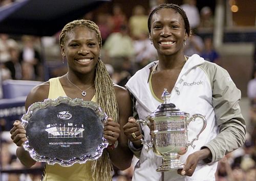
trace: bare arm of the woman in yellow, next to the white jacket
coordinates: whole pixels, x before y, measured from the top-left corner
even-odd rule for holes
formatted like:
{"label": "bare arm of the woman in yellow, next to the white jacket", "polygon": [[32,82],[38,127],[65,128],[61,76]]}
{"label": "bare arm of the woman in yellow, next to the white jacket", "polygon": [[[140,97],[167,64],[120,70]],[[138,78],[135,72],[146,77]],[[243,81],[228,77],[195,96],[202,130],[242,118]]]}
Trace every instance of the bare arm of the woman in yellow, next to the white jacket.
{"label": "bare arm of the woman in yellow, next to the white jacket", "polygon": [[119,109],[120,135],[116,149],[108,150],[112,163],[120,170],[125,170],[131,166],[133,152],[128,147],[128,139],[123,131],[123,126],[132,115],[132,103],[130,94],[122,87],[116,87],[116,98]]}

